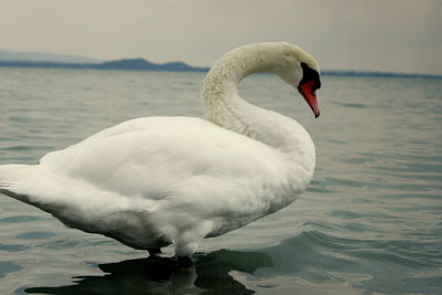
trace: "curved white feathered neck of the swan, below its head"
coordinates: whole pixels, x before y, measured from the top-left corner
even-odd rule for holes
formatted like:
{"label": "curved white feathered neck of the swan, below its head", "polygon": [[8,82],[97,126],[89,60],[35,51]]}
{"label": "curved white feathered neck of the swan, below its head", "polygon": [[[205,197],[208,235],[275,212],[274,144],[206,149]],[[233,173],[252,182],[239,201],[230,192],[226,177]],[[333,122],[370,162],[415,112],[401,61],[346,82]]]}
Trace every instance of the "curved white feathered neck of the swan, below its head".
{"label": "curved white feathered neck of the swan, below its head", "polygon": [[285,152],[299,149],[301,141],[306,137],[311,145],[308,134],[297,122],[249,104],[238,93],[241,80],[253,73],[274,72],[278,62],[281,52],[265,44],[240,48],[223,55],[204,80],[204,117]]}

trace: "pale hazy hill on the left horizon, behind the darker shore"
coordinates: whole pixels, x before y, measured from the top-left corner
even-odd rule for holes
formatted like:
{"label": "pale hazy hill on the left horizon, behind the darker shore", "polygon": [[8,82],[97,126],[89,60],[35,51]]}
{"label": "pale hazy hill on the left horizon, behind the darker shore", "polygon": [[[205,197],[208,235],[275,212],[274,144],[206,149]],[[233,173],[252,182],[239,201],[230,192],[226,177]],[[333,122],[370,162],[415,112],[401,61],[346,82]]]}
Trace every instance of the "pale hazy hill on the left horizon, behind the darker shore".
{"label": "pale hazy hill on the left horizon, behind the darker shore", "polygon": [[19,52],[0,50],[1,62],[52,62],[52,63],[99,63],[101,60],[77,55],[42,53],[42,52]]}

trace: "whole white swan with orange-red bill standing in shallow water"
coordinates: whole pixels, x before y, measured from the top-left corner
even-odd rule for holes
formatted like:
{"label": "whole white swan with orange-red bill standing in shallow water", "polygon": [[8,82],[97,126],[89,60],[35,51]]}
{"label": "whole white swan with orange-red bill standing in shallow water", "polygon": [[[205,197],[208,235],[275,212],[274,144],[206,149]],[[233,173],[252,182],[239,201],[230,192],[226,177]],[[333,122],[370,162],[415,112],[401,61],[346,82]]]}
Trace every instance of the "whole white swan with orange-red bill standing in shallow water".
{"label": "whole white swan with orange-red bill standing in shallow water", "polygon": [[246,75],[273,72],[298,87],[319,115],[316,61],[288,43],[233,50],[204,80],[206,119],[145,117],[45,155],[39,165],[0,166],[0,191],[71,228],[135,249],[198,243],[292,203],[315,167],[307,131],[292,118],[241,99]]}

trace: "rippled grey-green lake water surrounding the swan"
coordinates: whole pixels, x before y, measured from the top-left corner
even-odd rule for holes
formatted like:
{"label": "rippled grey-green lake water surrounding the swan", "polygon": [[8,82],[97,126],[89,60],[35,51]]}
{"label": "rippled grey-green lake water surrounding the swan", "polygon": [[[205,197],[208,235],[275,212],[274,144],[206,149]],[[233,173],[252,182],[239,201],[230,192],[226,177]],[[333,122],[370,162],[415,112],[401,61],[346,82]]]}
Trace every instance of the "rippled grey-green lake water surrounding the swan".
{"label": "rippled grey-green lake water surrounding the swan", "polygon": [[[0,164],[34,164],[134,117],[201,116],[202,80],[0,69]],[[190,273],[0,196],[0,293],[442,294],[441,82],[325,76],[313,119],[277,77],[244,81],[248,101],[311,133],[316,175],[288,208],[204,240]]]}

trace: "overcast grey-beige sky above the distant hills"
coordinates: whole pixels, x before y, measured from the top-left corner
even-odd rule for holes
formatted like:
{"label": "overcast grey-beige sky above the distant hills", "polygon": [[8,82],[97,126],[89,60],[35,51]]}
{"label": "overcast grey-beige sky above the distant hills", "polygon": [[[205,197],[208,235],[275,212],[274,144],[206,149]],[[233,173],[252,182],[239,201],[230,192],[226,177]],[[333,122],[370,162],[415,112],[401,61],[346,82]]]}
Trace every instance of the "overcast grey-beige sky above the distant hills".
{"label": "overcast grey-beige sky above the distant hills", "polygon": [[442,0],[0,0],[0,49],[209,66],[286,41],[324,70],[442,74]]}

